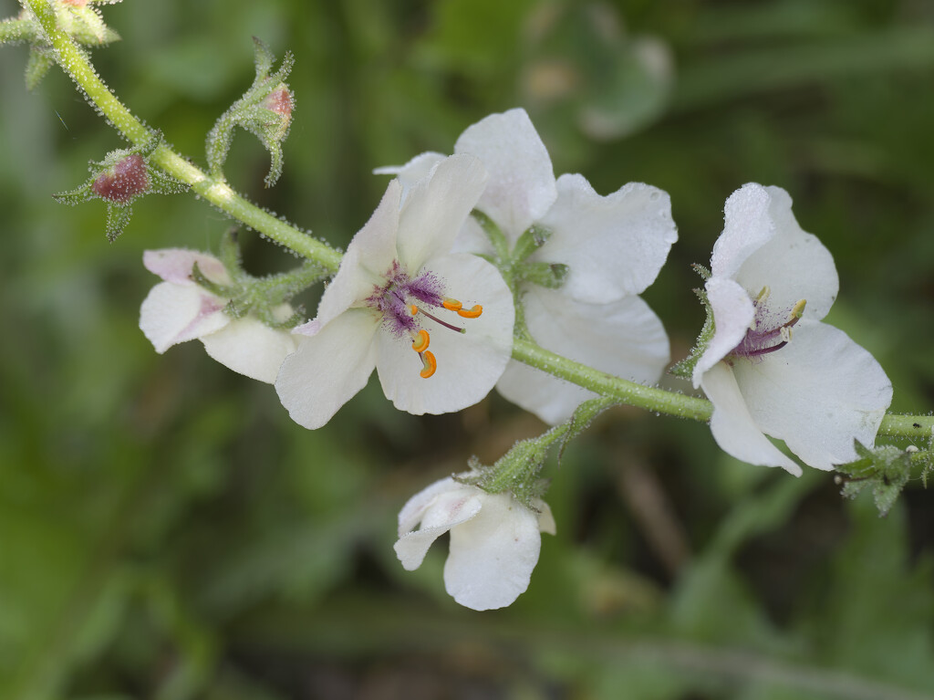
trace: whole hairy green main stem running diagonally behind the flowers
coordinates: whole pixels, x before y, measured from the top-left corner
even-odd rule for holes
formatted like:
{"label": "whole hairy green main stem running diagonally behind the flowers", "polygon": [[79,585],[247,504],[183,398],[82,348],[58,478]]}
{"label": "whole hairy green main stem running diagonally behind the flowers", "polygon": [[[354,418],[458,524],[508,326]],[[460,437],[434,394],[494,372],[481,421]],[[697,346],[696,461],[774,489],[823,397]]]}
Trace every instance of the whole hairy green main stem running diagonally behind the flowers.
{"label": "whole hairy green main stem running diagonally behind the flowers", "polygon": [[[21,2],[23,7],[32,10],[35,14],[55,50],[58,63],[84,91],[89,101],[104,114],[107,121],[110,121],[123,136],[134,144],[144,144],[153,138],[155,134],[142,121],[136,119],[133,113],[124,107],[120,100],[107,89],[104,82],[97,77],[84,51],[78,48],[70,36],[58,28],[55,12],[48,0],[21,0]],[[172,177],[188,183],[194,193],[204,197],[233,219],[246,223],[262,235],[309,260],[316,261],[328,271],[334,272],[340,265],[342,258],[340,251],[304,234],[285,221],[279,221],[235,193],[222,179],[211,178],[167,146],[158,147],[152,153],[151,161]],[[504,244],[504,241],[502,243]],[[529,364],[560,379],[567,379],[592,392],[613,397],[620,403],[630,406],[694,421],[709,421],[713,412],[711,403],[705,399],[645,387],[626,379],[613,377],[540,348],[531,340],[523,337],[516,338],[513,357],[519,362]],[[887,415],[882,422],[879,435],[927,440],[932,436],[932,431],[934,431],[934,416]]]}

